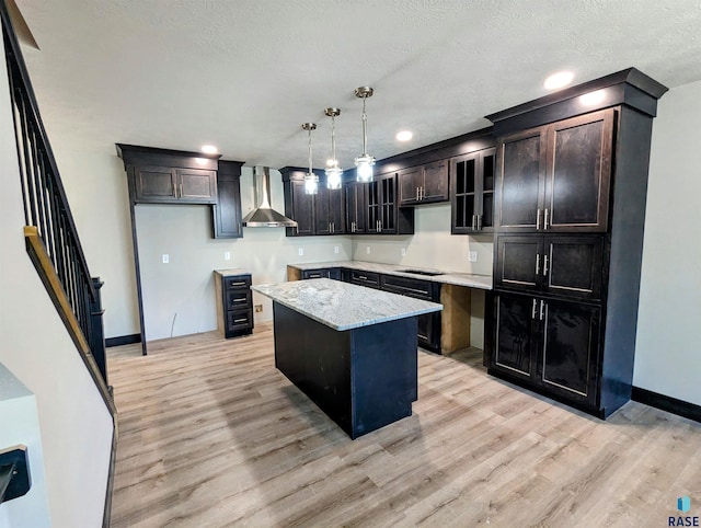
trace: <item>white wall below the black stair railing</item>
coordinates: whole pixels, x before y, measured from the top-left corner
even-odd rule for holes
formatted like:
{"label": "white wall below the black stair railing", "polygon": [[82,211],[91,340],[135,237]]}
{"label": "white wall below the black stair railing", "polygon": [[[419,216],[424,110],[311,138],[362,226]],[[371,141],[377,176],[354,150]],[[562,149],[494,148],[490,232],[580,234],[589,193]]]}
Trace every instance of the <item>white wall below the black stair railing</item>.
{"label": "white wall below the black stair railing", "polygon": [[0,179],[0,363],[36,395],[53,526],[100,526],[112,420],[25,250],[4,67]]}

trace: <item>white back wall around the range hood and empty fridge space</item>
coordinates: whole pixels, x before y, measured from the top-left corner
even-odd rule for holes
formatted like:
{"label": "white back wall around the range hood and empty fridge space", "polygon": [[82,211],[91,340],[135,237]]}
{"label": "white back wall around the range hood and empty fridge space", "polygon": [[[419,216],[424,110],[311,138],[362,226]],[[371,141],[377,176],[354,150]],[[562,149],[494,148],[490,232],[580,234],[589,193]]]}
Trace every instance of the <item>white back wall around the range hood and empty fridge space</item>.
{"label": "white back wall around the range hood and empty fridge space", "polygon": [[[246,167],[241,195],[245,215],[254,204]],[[271,171],[271,200],[284,210],[277,171]],[[214,269],[241,267],[251,272],[253,284],[279,283],[287,279],[288,263],[348,260],[352,253],[348,237],[287,238],[284,228],[244,228],[242,239],[215,240],[210,207],[203,205],[137,205],[136,219],[147,341],[217,328]],[[263,306],[256,321],[273,319],[269,299],[254,292],[253,302]]]}

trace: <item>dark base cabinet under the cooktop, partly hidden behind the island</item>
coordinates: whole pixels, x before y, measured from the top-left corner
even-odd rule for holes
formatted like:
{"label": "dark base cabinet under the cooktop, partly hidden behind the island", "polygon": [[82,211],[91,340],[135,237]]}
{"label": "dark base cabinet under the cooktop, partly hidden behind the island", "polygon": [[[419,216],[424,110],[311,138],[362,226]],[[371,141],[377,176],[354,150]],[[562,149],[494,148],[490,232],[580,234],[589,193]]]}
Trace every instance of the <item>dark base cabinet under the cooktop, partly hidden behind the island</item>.
{"label": "dark base cabinet under the cooktop, partly hidden behind the island", "polygon": [[[440,302],[440,283],[380,275],[380,287],[383,291]],[[418,345],[432,352],[440,352],[441,312],[426,313],[416,319],[418,322]]]}

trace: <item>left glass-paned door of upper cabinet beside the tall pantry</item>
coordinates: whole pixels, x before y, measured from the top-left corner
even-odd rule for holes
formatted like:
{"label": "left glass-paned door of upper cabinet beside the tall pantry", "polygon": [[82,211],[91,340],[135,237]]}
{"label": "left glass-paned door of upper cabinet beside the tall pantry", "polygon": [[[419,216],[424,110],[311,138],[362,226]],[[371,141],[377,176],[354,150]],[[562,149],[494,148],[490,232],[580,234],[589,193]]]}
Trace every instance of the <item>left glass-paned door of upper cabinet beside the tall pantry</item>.
{"label": "left glass-paned door of upper cabinet beside the tall pantry", "polygon": [[478,218],[480,154],[472,152],[451,160],[450,194],[452,234],[473,233]]}

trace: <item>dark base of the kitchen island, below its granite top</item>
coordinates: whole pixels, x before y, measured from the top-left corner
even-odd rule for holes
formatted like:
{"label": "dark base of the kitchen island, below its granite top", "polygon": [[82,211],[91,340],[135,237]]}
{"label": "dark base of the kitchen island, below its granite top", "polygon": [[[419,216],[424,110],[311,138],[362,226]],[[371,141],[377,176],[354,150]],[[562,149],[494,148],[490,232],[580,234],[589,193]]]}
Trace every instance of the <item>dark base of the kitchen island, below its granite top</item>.
{"label": "dark base of the kitchen island, below its granite top", "polygon": [[273,302],[275,366],[350,438],[412,414],[416,317],[336,331]]}

